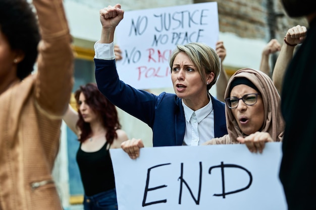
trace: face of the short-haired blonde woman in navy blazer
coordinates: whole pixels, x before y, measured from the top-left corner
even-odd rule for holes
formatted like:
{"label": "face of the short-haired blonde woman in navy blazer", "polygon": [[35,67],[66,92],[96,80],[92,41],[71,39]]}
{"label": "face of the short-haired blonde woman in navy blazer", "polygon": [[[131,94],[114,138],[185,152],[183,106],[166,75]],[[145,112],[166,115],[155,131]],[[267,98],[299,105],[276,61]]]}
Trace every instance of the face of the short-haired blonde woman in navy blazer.
{"label": "face of the short-haired blonde woman in navy blazer", "polygon": [[175,93],[184,101],[199,101],[207,96],[206,84],[189,56],[180,52],[172,65],[171,80]]}

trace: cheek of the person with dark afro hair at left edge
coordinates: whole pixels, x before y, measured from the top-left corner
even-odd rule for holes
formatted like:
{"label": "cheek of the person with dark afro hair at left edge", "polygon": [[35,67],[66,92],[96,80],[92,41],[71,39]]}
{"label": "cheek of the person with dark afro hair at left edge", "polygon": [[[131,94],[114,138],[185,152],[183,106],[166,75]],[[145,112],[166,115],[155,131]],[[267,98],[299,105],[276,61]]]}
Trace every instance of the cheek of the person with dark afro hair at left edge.
{"label": "cheek of the person with dark afro hair at left edge", "polygon": [[6,88],[1,87],[1,84],[8,84],[17,78],[15,56],[16,52],[11,49],[7,38],[0,30],[0,88]]}

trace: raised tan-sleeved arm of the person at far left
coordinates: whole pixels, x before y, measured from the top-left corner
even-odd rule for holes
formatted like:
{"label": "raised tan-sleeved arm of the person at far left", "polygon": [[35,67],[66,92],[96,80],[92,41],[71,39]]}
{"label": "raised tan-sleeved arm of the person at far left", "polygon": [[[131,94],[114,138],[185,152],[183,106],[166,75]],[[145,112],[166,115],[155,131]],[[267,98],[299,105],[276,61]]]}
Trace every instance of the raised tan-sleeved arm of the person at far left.
{"label": "raised tan-sleeved arm of the person at far left", "polygon": [[35,97],[38,109],[61,119],[73,86],[73,51],[62,0],[33,0],[41,41],[38,46]]}

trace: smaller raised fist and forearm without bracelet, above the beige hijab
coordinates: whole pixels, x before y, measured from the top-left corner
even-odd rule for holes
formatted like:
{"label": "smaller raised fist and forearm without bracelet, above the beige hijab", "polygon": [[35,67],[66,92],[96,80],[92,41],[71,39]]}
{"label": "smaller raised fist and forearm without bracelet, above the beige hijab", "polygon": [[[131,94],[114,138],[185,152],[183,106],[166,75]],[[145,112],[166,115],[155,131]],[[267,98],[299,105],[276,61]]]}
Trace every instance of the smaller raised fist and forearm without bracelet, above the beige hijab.
{"label": "smaller raised fist and forearm without bracelet, above the beige hijab", "polygon": [[270,42],[268,42],[268,44],[264,48],[264,50],[262,50],[259,70],[268,75],[269,77],[272,76],[269,64],[270,55],[280,50],[281,44],[276,39],[271,39]]}

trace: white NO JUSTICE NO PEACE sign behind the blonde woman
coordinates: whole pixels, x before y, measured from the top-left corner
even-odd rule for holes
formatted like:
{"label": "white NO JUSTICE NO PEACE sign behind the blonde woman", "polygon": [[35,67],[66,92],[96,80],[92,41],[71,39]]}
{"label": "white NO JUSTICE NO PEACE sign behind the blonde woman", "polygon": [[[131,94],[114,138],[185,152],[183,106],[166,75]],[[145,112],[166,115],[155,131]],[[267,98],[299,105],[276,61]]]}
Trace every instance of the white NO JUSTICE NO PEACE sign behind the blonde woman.
{"label": "white NO JUSTICE NO PEACE sign behind the blonde woman", "polygon": [[122,81],[136,89],[170,88],[169,56],[177,44],[203,42],[215,48],[217,3],[125,11],[115,36],[123,56],[117,61]]}

